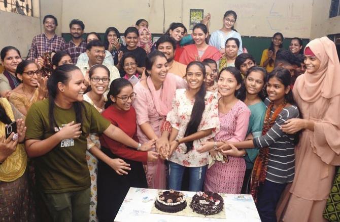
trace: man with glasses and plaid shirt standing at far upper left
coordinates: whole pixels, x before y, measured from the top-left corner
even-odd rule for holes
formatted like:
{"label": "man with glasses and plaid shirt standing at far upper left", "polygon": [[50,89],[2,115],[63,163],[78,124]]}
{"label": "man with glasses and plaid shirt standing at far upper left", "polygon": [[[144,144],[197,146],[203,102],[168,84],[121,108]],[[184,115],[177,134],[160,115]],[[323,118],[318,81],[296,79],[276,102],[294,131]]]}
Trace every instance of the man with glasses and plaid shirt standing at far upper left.
{"label": "man with glasses and plaid shirt standing at far upper left", "polygon": [[46,52],[58,52],[64,50],[65,40],[55,34],[55,29],[58,26],[57,18],[53,15],[46,15],[43,19],[44,33],[33,37],[31,48],[27,59],[35,61],[38,57],[44,56]]}

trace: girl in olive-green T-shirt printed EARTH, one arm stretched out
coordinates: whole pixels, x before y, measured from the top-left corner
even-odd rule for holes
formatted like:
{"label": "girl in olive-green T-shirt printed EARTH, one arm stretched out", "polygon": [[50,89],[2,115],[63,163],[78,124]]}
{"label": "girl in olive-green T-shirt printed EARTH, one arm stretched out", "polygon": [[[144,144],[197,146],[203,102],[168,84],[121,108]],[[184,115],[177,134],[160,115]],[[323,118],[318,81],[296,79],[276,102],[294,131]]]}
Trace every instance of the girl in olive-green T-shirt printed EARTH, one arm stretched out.
{"label": "girl in olive-green T-shirt printed EARTH, one arm stretched out", "polygon": [[83,82],[77,66],[57,67],[47,82],[48,99],[33,104],[26,116],[26,153],[35,157],[37,186],[53,221],[89,220],[88,134],[105,134],[135,149],[151,148],[154,143],[132,140],[84,102]]}

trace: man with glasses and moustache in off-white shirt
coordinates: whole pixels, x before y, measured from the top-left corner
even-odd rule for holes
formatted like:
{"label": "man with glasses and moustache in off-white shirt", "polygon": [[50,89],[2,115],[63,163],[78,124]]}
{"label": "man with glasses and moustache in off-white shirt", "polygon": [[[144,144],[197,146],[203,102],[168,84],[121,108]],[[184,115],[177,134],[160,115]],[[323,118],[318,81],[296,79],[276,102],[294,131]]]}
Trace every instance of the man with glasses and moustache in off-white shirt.
{"label": "man with glasses and moustache in off-white shirt", "polygon": [[[120,74],[116,66],[109,63],[103,63],[105,58],[105,46],[104,43],[98,39],[92,40],[87,44],[86,54],[88,56],[88,62],[78,63],[77,66],[85,76],[85,83],[89,82],[88,72],[90,68],[97,64],[105,65],[110,71],[110,83],[116,78],[120,78]],[[110,85],[109,83],[109,85]]]}

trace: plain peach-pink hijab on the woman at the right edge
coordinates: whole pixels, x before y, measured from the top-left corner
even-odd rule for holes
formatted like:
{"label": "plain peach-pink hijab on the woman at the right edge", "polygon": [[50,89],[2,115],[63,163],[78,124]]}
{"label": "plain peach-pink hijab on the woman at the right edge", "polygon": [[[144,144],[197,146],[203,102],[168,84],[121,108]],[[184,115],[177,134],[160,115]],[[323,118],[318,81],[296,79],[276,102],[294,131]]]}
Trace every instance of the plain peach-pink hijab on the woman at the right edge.
{"label": "plain peach-pink hijab on the woman at the right edge", "polygon": [[321,61],[314,73],[305,72],[297,82],[298,94],[306,102],[315,102],[320,97],[330,99],[340,94],[340,63],[334,42],[328,37],[316,38],[305,47]]}

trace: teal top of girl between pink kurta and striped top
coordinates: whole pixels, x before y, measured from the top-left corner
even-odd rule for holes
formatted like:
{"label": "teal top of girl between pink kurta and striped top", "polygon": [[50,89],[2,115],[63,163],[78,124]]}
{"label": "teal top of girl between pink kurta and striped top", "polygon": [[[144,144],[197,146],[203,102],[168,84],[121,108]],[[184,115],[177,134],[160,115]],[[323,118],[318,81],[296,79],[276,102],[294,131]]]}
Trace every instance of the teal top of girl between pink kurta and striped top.
{"label": "teal top of girl between pink kurta and striped top", "polygon": [[[262,135],[263,120],[267,108],[262,101],[254,105],[250,105],[248,108],[250,109],[251,115],[249,118],[247,135],[251,133],[253,138],[260,137]],[[252,169],[259,149],[254,148],[245,150],[247,152],[247,155],[245,156],[246,168]]]}

